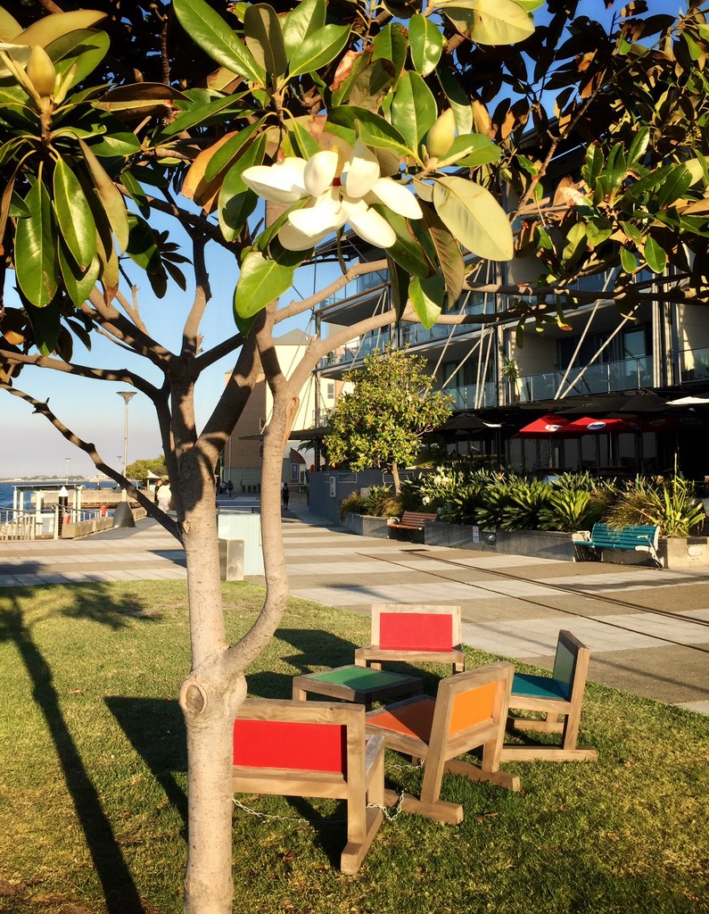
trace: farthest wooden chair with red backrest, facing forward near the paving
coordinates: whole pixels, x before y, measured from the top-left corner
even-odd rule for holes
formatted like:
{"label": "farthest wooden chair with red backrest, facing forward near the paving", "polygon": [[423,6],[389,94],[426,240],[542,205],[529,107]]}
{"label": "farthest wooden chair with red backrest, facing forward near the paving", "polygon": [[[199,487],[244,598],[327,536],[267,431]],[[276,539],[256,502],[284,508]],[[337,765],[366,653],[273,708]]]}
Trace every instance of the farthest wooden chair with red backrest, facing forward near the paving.
{"label": "farthest wooden chair with red backrest, facing forward near the paving", "polygon": [[383,660],[452,664],[465,669],[460,606],[375,603],[372,643],[355,650],[357,666],[382,668]]}

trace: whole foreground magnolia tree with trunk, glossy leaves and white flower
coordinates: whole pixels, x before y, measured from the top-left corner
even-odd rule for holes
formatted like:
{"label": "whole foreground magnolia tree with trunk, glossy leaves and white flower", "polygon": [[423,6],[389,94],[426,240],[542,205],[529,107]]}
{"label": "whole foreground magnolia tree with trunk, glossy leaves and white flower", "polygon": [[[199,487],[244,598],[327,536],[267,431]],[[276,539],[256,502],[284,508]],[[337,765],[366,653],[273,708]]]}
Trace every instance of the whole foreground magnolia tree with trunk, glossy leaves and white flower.
{"label": "whole foreground magnolia tree with trunk, glossy leaves and white flower", "polygon": [[[706,300],[709,27],[699,4],[689,0],[675,20],[636,0],[605,25],[577,17],[575,0],[536,6],[37,0],[17,5],[17,20],[0,9],[0,270],[2,287],[16,286],[0,313],[0,388],[120,483],[23,378],[41,369],[119,381],[153,402],[176,519],[133,496],[184,544],[187,561],[192,669],[180,704],[191,914],[231,909],[232,721],[244,670],[286,604],[280,461],[318,361],[397,321],[521,327],[532,317],[544,329],[598,297],[622,314],[644,301]],[[569,151],[566,174],[557,163]],[[356,262],[355,236],[378,259]],[[342,277],[279,307],[324,239],[336,241],[328,248]],[[217,247],[233,263],[236,324],[203,350]],[[513,257],[525,259],[529,282],[488,269]],[[129,264],[156,295],[170,292],[156,326],[125,280]],[[185,269],[195,292],[178,317],[173,291],[185,288]],[[313,339],[286,377],[278,324],[385,269],[388,310]],[[578,291],[579,280],[608,271],[610,289]],[[496,296],[495,314],[463,313],[466,290]],[[172,351],[160,330],[178,320]],[[94,335],[115,343],[114,364],[81,356]],[[145,370],[122,367],[126,352]],[[225,356],[228,383],[198,423],[196,383]],[[273,394],[261,487],[267,588],[258,621],[229,644],[215,469],[261,373]]]}

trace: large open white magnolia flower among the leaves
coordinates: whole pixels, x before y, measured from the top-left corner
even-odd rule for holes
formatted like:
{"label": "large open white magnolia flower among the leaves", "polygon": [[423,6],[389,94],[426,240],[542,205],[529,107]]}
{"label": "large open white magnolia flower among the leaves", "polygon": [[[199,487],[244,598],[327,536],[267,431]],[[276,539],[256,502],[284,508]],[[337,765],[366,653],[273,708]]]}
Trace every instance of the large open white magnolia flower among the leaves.
{"label": "large open white magnolia flower among the leaves", "polygon": [[349,223],[361,239],[377,248],[390,248],[397,240],[394,229],[371,204],[382,203],[400,216],[423,216],[418,200],[390,177],[382,177],[376,155],[357,140],[349,159],[323,149],[312,158],[291,156],[276,165],[253,165],[241,175],[244,184],[265,200],[296,203],[304,207],[288,214],[279,232],[287,250],[309,250]]}

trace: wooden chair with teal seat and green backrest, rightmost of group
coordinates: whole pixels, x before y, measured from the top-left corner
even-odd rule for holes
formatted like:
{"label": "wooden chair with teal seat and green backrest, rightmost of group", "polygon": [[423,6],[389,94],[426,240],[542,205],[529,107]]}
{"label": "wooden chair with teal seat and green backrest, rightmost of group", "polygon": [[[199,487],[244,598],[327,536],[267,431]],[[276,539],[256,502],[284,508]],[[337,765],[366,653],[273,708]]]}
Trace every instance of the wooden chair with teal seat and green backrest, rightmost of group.
{"label": "wooden chair with teal seat and green backrest, rightmost of group", "polygon": [[[501,758],[514,761],[596,761],[596,749],[578,749],[578,727],[588,674],[590,651],[571,632],[559,632],[551,676],[515,673],[510,707],[544,711],[544,720],[511,717],[515,729],[561,733],[560,746],[504,746]],[[559,715],[564,715],[559,720]]]}

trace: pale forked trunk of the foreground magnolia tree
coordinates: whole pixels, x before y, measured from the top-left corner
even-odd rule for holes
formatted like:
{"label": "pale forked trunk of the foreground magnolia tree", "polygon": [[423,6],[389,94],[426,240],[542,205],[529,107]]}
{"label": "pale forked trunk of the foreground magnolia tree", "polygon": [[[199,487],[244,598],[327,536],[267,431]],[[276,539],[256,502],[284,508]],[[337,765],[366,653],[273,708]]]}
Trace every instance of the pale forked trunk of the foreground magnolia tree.
{"label": "pale forked trunk of the foreground magnolia tree", "polygon": [[261,467],[266,598],[252,628],[232,646],[228,645],[224,627],[219,575],[215,467],[197,448],[185,454],[181,466],[193,658],[192,672],[180,690],[188,760],[185,914],[231,914],[232,911],[234,718],[247,696],[244,670],[270,642],[288,600],[280,528],[280,474],[283,448],[299,400],[280,374],[270,325],[260,328],[257,339],[273,390],[273,411],[264,433]]}

